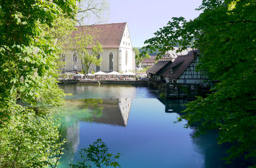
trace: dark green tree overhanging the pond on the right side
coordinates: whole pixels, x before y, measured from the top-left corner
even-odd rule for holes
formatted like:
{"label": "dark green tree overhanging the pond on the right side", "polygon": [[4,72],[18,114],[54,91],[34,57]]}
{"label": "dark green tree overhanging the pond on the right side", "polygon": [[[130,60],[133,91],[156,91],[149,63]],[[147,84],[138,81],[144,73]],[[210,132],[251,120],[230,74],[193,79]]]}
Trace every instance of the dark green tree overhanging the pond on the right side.
{"label": "dark green tree overhanging the pond on the right side", "polygon": [[208,97],[190,102],[182,118],[188,127],[197,125],[197,133],[218,130],[218,143],[233,144],[229,160],[255,159],[255,1],[203,0],[198,10],[200,16],[189,22],[172,18],[144,49],[158,49],[161,58],[176,43],[177,52],[188,45],[198,48],[197,69],[218,83]]}

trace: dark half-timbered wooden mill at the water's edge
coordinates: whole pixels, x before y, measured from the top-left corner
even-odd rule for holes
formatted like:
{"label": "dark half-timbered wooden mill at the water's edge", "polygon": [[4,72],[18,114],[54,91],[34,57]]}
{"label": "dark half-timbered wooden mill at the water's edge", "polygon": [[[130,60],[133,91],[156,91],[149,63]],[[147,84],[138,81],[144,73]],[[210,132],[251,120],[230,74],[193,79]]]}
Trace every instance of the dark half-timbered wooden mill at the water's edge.
{"label": "dark half-timbered wooden mill at the water's edge", "polygon": [[[165,97],[193,98],[204,95],[201,84],[208,81],[205,71],[196,71],[198,50],[192,50],[185,56],[178,56],[174,62],[158,61],[148,69],[149,85],[155,87]],[[207,90],[208,92],[208,90]]]}

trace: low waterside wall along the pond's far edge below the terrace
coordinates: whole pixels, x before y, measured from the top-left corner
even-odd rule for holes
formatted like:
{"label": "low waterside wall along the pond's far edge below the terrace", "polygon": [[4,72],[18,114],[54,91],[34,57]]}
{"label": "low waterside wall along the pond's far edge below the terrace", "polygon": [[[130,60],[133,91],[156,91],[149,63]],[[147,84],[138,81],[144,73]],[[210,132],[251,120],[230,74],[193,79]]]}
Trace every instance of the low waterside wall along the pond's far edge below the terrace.
{"label": "low waterside wall along the pond's far edge below the terrace", "polygon": [[59,84],[120,84],[132,86],[148,86],[148,81],[140,80],[86,80],[86,79],[59,79]]}

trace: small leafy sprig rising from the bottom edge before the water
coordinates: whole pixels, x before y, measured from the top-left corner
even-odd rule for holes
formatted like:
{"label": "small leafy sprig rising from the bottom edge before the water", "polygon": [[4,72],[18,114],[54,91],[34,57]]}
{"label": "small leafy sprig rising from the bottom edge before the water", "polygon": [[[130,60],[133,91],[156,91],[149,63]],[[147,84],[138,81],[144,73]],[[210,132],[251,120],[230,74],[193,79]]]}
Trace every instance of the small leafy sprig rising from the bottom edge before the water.
{"label": "small leafy sprig rising from the bottom edge before the water", "polygon": [[72,168],[82,168],[82,167],[91,167],[90,162],[95,164],[96,167],[102,166],[113,166],[120,167],[118,162],[115,162],[115,159],[119,159],[120,154],[117,153],[115,156],[108,153],[108,146],[104,143],[101,138],[97,139],[93,145],[90,145],[88,149],[82,149],[80,152],[82,162],[77,164],[70,164]]}

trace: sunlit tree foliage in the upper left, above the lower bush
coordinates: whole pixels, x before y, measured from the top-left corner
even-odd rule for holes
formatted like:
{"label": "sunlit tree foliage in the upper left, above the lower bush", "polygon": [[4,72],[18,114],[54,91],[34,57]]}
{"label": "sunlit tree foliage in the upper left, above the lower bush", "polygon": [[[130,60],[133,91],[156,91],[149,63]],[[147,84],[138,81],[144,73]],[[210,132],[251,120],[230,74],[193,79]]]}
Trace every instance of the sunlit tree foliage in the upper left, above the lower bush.
{"label": "sunlit tree foliage in the upper left, above the lower bush", "polygon": [[43,28],[51,27],[61,14],[74,17],[75,1],[0,3],[1,102],[19,99],[35,106],[53,100],[54,105],[58,104],[64,95],[55,78],[58,48]]}

